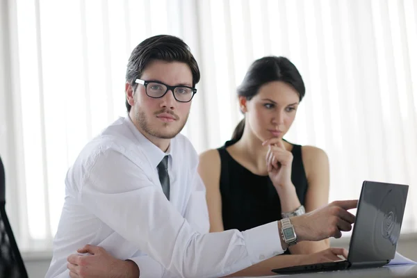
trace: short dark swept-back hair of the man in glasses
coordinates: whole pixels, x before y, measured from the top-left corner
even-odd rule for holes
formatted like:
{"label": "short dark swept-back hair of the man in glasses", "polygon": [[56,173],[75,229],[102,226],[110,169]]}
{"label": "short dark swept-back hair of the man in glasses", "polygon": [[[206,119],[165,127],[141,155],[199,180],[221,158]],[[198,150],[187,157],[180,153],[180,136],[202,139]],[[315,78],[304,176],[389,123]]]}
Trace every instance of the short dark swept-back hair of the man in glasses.
{"label": "short dark swept-back hair of the man in glasses", "polygon": [[[163,60],[166,62],[182,62],[190,67],[193,74],[193,87],[200,79],[200,72],[190,47],[180,38],[172,35],[155,35],[140,42],[127,63],[126,82],[129,82],[133,90],[136,90],[138,84],[136,79],[140,78],[147,65],[153,60]],[[126,108],[130,112],[131,105],[126,99]]]}

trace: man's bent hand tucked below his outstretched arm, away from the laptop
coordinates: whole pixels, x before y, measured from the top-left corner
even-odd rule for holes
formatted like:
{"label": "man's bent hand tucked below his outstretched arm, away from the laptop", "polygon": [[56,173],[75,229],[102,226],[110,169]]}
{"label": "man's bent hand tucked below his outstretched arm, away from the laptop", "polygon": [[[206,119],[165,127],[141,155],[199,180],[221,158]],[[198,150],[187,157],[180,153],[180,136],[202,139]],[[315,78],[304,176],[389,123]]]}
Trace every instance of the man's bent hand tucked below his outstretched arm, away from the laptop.
{"label": "man's bent hand tucked below his outstretched arm, away from the laptop", "polygon": [[139,277],[139,268],[136,263],[115,259],[102,247],[85,245],[76,251],[86,255],[68,256],[67,268],[70,270],[71,278]]}

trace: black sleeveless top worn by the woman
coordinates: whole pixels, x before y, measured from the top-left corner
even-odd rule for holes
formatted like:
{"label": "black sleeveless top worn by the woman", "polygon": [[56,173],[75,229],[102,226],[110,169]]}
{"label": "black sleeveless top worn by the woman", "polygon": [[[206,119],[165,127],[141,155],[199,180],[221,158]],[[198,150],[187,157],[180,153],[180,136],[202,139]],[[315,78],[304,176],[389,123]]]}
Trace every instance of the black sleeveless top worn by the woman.
{"label": "black sleeveless top worn by the woman", "polygon": [[[227,141],[218,149],[222,164],[220,193],[224,229],[245,231],[281,219],[281,202],[268,176],[253,174],[234,160],[226,148],[235,142]],[[293,145],[291,180],[298,199],[304,205],[308,188],[302,163],[301,146]]]}

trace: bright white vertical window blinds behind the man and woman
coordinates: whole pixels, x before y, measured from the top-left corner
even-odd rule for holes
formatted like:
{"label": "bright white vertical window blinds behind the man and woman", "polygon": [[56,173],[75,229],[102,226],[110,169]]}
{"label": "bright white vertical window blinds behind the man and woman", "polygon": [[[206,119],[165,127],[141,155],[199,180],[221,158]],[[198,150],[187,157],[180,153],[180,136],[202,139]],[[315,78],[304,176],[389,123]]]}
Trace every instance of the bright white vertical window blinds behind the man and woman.
{"label": "bright white vertical window blinds behind the man and woman", "polygon": [[8,0],[1,12],[0,154],[23,250],[51,248],[67,168],[125,115],[129,54],[161,33],[199,62],[183,130],[198,152],[242,118],[236,86],[250,63],[286,56],[306,83],[286,138],[325,149],[330,200],[357,198],[363,180],[409,184],[402,232],[417,232],[416,1]]}

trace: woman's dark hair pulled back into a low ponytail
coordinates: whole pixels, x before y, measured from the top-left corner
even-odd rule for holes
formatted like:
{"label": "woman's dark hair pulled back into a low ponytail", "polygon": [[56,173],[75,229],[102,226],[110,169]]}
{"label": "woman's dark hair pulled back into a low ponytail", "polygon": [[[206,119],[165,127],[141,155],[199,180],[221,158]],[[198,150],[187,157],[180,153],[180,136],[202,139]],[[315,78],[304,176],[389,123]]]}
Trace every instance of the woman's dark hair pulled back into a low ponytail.
{"label": "woman's dark hair pulled back into a low ponytail", "polygon": [[[290,60],[281,56],[267,56],[255,60],[250,65],[242,84],[238,87],[238,96],[250,100],[258,93],[262,85],[272,81],[282,81],[293,86],[298,92],[300,101],[306,93],[300,72]],[[245,119],[241,120],[236,126],[231,140],[237,141],[242,138],[244,129]]]}

